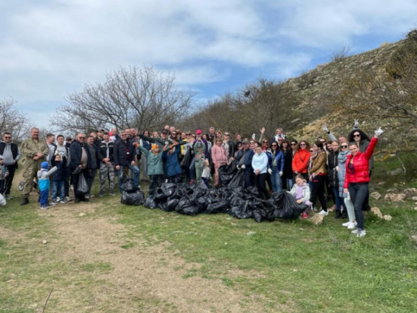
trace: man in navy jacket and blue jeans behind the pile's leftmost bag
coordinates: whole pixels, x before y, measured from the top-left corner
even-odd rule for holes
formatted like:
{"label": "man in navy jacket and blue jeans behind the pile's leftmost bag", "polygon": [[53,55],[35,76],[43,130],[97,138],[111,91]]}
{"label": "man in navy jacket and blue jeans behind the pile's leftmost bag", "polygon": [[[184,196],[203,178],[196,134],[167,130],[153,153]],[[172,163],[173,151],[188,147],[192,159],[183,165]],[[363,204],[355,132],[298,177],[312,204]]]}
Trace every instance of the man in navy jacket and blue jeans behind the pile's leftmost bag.
{"label": "man in navy jacket and blue jeans behind the pile's leftmost bag", "polygon": [[115,160],[115,169],[117,171],[119,191],[122,192],[122,185],[120,178],[124,174],[124,168],[128,168],[133,173],[133,185],[139,185],[140,169],[135,165],[136,149],[127,139],[127,134],[123,132],[120,134],[120,139],[115,142],[113,158]]}

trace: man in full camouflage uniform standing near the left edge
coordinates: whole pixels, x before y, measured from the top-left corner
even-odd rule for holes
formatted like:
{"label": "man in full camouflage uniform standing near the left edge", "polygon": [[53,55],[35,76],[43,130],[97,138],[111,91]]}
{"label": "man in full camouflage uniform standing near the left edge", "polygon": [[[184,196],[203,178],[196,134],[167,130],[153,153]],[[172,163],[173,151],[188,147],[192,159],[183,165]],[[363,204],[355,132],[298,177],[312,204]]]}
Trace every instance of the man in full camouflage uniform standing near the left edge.
{"label": "man in full camouflage uniform standing near the left edge", "polygon": [[23,142],[22,153],[26,155],[26,161],[23,169],[24,187],[20,205],[26,205],[29,203],[28,196],[32,191],[33,178],[38,180],[37,173],[40,169],[40,163],[44,162],[45,157],[49,154],[47,143],[39,140],[39,128],[31,129],[31,138]]}

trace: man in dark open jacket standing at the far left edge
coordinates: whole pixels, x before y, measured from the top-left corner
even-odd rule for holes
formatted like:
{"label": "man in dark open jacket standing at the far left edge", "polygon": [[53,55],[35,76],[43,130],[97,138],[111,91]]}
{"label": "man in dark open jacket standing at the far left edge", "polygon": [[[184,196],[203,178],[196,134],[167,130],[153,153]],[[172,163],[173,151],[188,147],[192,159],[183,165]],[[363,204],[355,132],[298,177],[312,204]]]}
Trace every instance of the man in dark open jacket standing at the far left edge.
{"label": "man in dark open jacket standing at the far left edge", "polygon": [[0,155],[3,155],[4,165],[6,165],[9,173],[6,177],[4,196],[6,199],[11,200],[13,197],[10,196],[10,189],[12,187],[13,178],[15,177],[17,161],[19,161],[22,153],[20,153],[17,144],[12,142],[12,134],[8,132],[3,134],[3,142],[0,142]]}

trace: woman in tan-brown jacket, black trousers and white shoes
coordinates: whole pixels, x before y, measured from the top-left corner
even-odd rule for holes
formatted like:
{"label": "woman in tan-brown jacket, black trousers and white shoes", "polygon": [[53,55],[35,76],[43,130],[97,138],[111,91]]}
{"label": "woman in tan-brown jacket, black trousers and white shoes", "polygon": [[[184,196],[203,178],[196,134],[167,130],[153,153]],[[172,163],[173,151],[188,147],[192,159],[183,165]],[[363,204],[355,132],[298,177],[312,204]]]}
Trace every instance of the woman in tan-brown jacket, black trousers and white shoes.
{"label": "woman in tan-brown jacket, black trousers and white shoes", "polygon": [[313,146],[313,151],[316,156],[311,163],[309,169],[309,179],[313,182],[313,190],[311,191],[310,202],[316,205],[317,198],[320,201],[322,210],[318,212],[320,215],[326,216],[327,212],[326,198],[325,198],[325,180],[327,176],[327,153],[323,147],[323,143],[316,141]]}

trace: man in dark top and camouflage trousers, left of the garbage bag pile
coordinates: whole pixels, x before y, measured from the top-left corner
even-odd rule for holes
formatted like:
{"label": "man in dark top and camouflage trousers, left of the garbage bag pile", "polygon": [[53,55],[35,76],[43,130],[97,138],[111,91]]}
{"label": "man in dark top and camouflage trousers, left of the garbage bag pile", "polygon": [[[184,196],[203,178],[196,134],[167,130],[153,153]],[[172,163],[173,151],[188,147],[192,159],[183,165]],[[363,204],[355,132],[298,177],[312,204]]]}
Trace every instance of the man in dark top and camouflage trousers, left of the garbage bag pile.
{"label": "man in dark top and camouflage trousers, left of the garbage bag pile", "polygon": [[103,141],[100,144],[100,193],[106,193],[106,180],[108,179],[110,195],[115,196],[115,162],[113,157],[115,143],[110,141],[108,133],[104,133]]}

